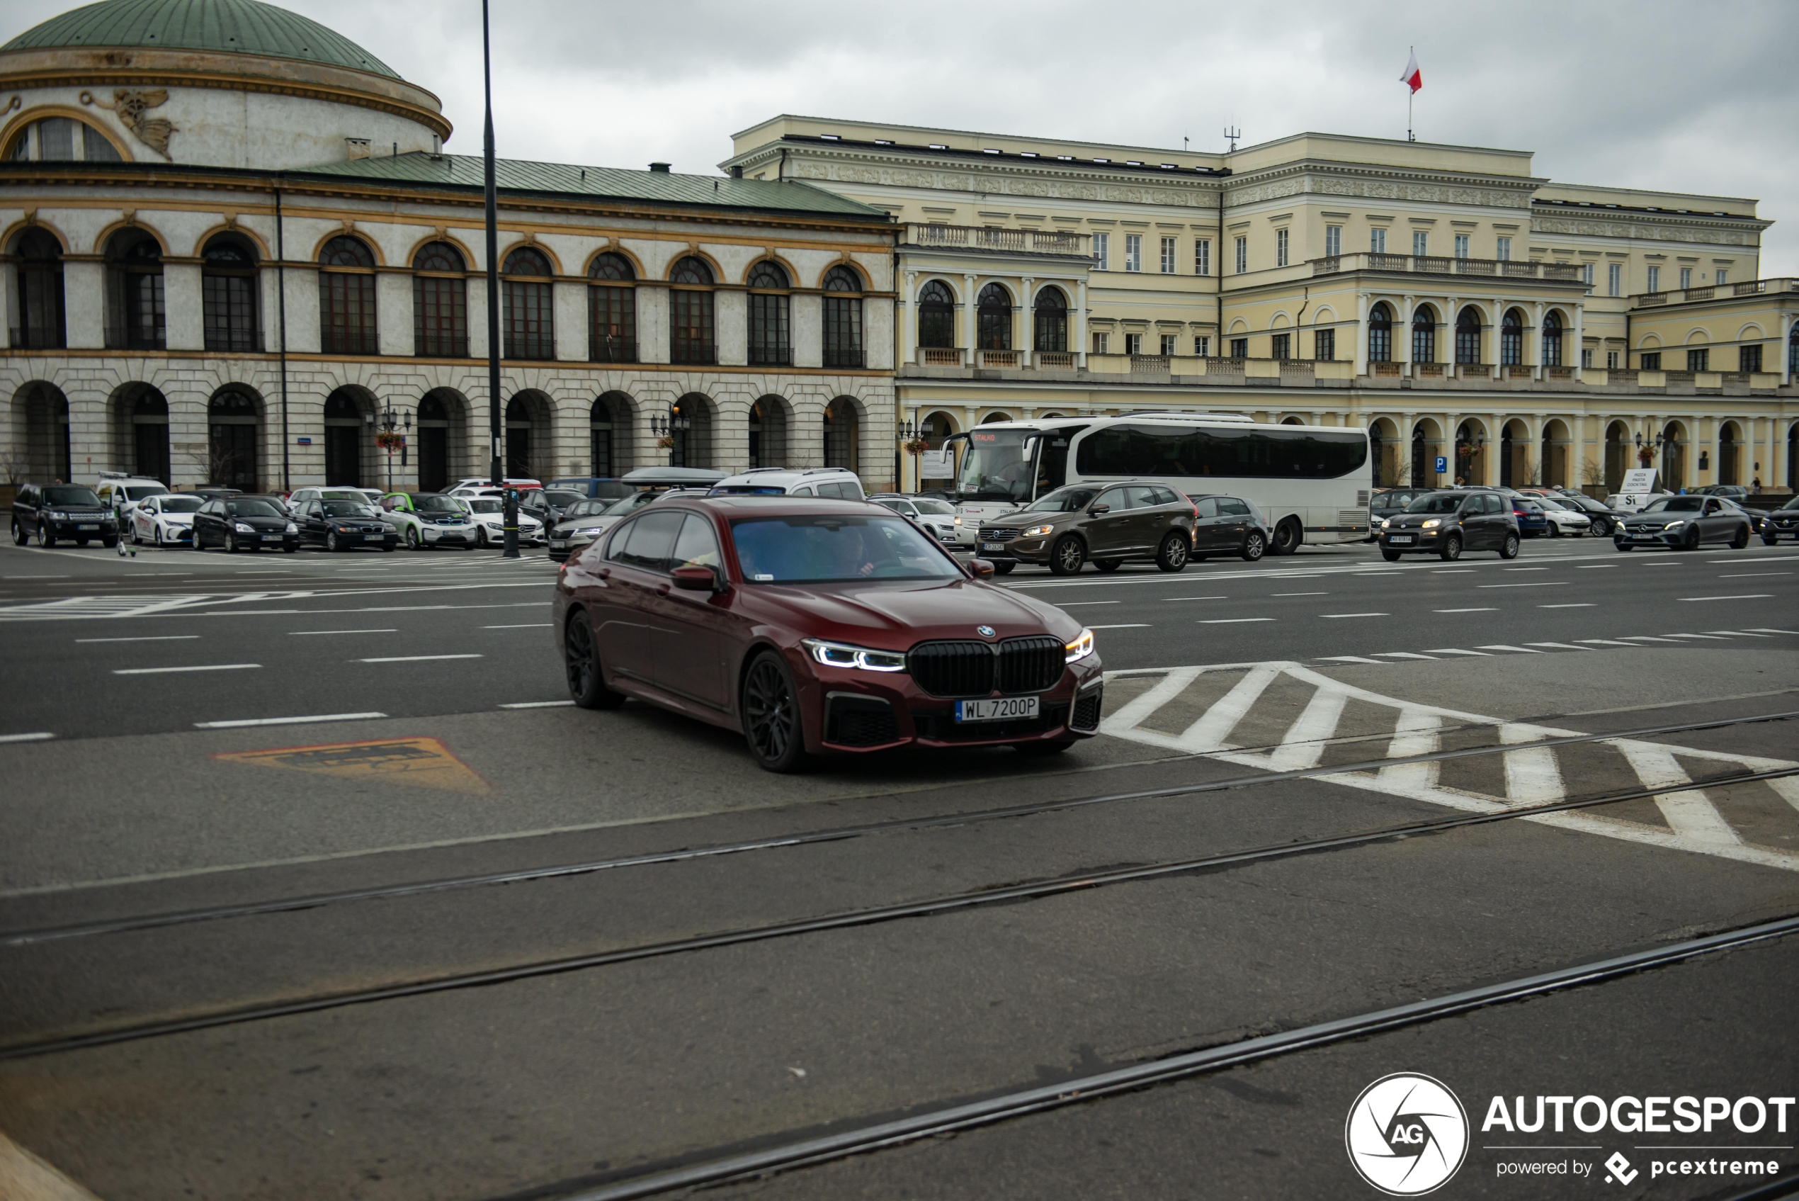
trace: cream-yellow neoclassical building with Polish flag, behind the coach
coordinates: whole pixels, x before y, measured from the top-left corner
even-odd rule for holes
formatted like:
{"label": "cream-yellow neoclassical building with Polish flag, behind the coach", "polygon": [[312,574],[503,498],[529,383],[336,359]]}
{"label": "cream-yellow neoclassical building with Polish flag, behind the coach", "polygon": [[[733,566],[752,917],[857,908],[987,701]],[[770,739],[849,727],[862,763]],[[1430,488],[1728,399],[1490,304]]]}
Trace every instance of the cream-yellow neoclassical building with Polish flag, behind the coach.
{"label": "cream-yellow neoclassical building with Polish flag, behind the coach", "polygon": [[1616,488],[1642,456],[1677,486],[1799,474],[1799,281],[1759,277],[1752,200],[1558,184],[1468,146],[1214,155],[790,115],[721,166],[901,223],[900,416],[932,443],[1196,409],[1367,427],[1383,483]]}

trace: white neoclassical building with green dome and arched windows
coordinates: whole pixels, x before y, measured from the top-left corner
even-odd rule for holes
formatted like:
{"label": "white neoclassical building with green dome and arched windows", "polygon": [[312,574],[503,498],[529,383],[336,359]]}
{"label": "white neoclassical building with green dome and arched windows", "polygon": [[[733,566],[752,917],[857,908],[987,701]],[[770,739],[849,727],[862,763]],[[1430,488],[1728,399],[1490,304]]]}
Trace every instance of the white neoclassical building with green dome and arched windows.
{"label": "white neoclassical building with green dome and arched windows", "polygon": [[[435,95],[255,0],[110,0],[0,47],[0,106],[9,479],[486,474],[482,162],[444,151]],[[513,160],[498,207],[509,474],[828,465],[891,486],[885,211]]]}

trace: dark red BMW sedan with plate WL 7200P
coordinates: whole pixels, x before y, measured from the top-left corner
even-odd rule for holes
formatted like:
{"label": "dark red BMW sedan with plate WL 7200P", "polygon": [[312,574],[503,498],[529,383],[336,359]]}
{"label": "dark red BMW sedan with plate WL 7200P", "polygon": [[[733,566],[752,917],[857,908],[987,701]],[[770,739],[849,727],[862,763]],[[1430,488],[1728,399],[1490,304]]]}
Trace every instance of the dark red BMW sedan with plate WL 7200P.
{"label": "dark red BMW sedan with plate WL 7200P", "polygon": [[556,641],[576,704],[741,729],[770,771],[1096,733],[1092,632],[984,574],[878,504],[669,499],[563,565]]}

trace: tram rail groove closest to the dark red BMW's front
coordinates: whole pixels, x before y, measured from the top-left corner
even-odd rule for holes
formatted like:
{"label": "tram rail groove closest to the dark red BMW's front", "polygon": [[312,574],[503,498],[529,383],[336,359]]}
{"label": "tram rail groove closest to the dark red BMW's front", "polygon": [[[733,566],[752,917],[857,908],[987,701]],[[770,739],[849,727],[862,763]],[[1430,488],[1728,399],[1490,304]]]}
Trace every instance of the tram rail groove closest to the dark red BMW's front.
{"label": "tram rail groove closest to the dark red BMW's front", "polygon": [[[1132,792],[1101,792],[1101,794],[1094,794],[1094,796],[1078,796],[1078,798],[1067,798],[1067,799],[1058,799],[1058,801],[1033,801],[1029,805],[1006,805],[1006,807],[998,807],[998,808],[979,808],[979,810],[968,810],[968,812],[932,814],[932,816],[921,816],[921,817],[894,817],[891,821],[858,823],[858,825],[849,825],[849,826],[826,826],[822,830],[808,830],[808,832],[797,832],[797,834],[777,834],[777,835],[768,835],[768,837],[761,837],[761,839],[741,839],[741,841],[734,841],[734,843],[711,843],[711,844],[702,844],[702,846],[682,846],[682,848],[673,848],[673,850],[666,850],[666,852],[646,852],[646,853],[640,853],[640,855],[621,855],[621,857],[613,857],[613,859],[592,859],[592,861],[583,861],[583,862],[550,864],[550,866],[543,866],[543,868],[516,868],[516,870],[511,870],[511,871],[484,871],[484,873],[441,877],[441,879],[432,879],[432,880],[414,880],[414,882],[407,882],[407,884],[381,884],[381,886],[372,886],[372,888],[338,889],[338,891],[329,891],[329,893],[311,893],[311,895],[300,895],[300,897],[279,897],[279,898],[270,898],[270,900],[250,900],[250,902],[239,902],[239,904],[228,904],[228,906],[207,906],[207,908],[198,908],[198,909],[175,909],[175,911],[167,911],[167,913],[146,913],[146,915],[133,915],[133,917],[122,917],[122,918],[104,918],[104,920],[97,920],[97,922],[76,922],[76,924],[67,924],[67,926],[47,926],[47,927],[38,927],[38,929],[23,929],[23,931],[0,933],[0,949],[27,947],[27,945],[38,945],[38,944],[47,944],[47,942],[61,942],[61,940],[70,940],[70,938],[94,938],[94,936],[101,936],[101,935],[121,935],[121,933],[131,933],[131,931],[142,931],[142,929],[167,929],[167,927],[175,927],[175,926],[194,926],[194,924],[201,924],[201,922],[219,922],[219,920],[232,920],[232,918],[239,918],[239,917],[261,917],[261,915],[270,915],[270,913],[299,913],[299,911],[306,911],[306,909],[320,909],[320,908],[326,908],[326,906],[351,904],[351,902],[360,902],[360,900],[389,900],[389,898],[396,898],[396,897],[417,897],[417,895],[441,893],[441,891],[459,891],[459,889],[466,889],[466,888],[489,888],[489,886],[498,886],[498,884],[524,884],[524,882],[533,882],[533,880],[567,879],[567,877],[592,875],[592,873],[597,873],[597,871],[612,871],[612,870],[621,870],[621,868],[657,866],[657,864],[669,864],[669,862],[684,862],[684,861],[691,861],[691,859],[714,859],[714,857],[738,855],[738,853],[748,853],[748,852],[759,852],[759,850],[779,850],[779,848],[784,848],[784,846],[811,846],[811,844],[824,844],[824,843],[840,843],[840,841],[847,841],[847,839],[873,837],[873,835],[883,835],[883,834],[900,834],[900,832],[907,832],[907,830],[932,830],[932,828],[944,828],[944,826],[979,825],[979,823],[984,823],[984,821],[1004,821],[1004,819],[1015,819],[1015,817],[1033,817],[1033,816],[1038,816],[1038,814],[1065,812],[1065,810],[1074,810],[1074,808],[1088,808],[1088,807],[1096,807],[1096,805],[1115,805],[1115,803],[1123,803],[1123,801],[1160,799],[1160,798],[1171,798],[1171,796],[1195,796],[1195,794],[1204,794],[1204,792],[1225,792],[1225,790],[1234,790],[1234,789],[1259,787],[1259,785],[1266,785],[1266,783],[1283,783],[1283,781],[1290,781],[1290,780],[1310,780],[1310,778],[1317,778],[1317,776],[1333,776],[1333,774],[1346,774],[1346,772],[1358,772],[1358,771],[1378,771],[1378,769],[1385,769],[1385,767],[1403,767],[1407,763],[1434,763],[1434,762],[1445,762],[1445,760],[1477,758],[1477,756],[1484,756],[1484,754],[1509,754],[1509,753],[1517,753],[1517,751],[1554,749],[1554,747],[1560,747],[1560,745],[1580,745],[1580,744],[1589,744],[1589,742],[1603,742],[1603,740],[1608,740],[1608,738],[1648,738],[1648,736],[1671,735],[1671,733],[1693,733],[1693,731],[1700,731],[1700,729],[1722,729],[1722,727],[1729,727],[1729,726],[1750,726],[1750,724],[1763,724],[1763,722],[1786,722],[1786,720],[1794,720],[1794,718],[1799,718],[1799,709],[1795,709],[1795,711],[1785,711],[1785,713],[1758,713],[1758,715],[1750,715],[1750,717],[1734,717],[1734,718],[1713,718],[1713,720],[1705,720],[1705,722],[1682,722],[1682,724],[1673,724],[1673,726],[1648,726],[1648,727],[1641,727],[1641,729],[1624,729],[1624,731],[1612,731],[1612,733],[1601,733],[1601,735],[1562,735],[1562,736],[1554,736],[1554,738],[1538,738],[1538,740],[1531,740],[1531,742],[1513,742],[1513,744],[1497,744],[1497,745],[1482,745],[1482,747],[1455,747],[1455,749],[1446,749],[1446,751],[1428,751],[1428,753],[1423,753],[1423,754],[1407,754],[1407,756],[1398,756],[1398,758],[1362,760],[1362,762],[1355,762],[1355,763],[1333,763],[1333,765],[1319,765],[1319,767],[1302,767],[1302,769],[1279,771],[1279,772],[1258,772],[1254,776],[1229,776],[1229,778],[1223,778],[1223,780],[1211,780],[1211,781],[1189,783],[1189,785],[1168,785],[1168,787],[1162,787],[1162,789],[1139,789],[1139,790],[1132,790]],[[1542,720],[1554,720],[1554,718],[1531,718],[1529,724],[1538,724]],[[1445,727],[1441,733],[1466,733],[1470,729],[1495,729],[1495,727],[1497,727],[1497,722],[1495,724],[1466,722],[1466,724],[1457,726],[1457,727]],[[1241,751],[1234,751],[1234,753],[1275,751],[1281,745],[1288,745],[1288,747],[1293,747],[1293,745],[1347,745],[1347,744],[1355,744],[1355,742],[1389,740],[1389,738],[1391,738],[1391,735],[1351,735],[1347,738],[1301,740],[1301,742],[1275,744],[1275,745],[1266,745],[1266,747],[1241,747]],[[1198,760],[1198,758],[1207,758],[1209,754],[1213,754],[1213,753],[1202,753],[1202,754],[1191,754],[1191,756],[1178,756],[1178,758],[1171,758],[1171,760],[1159,760],[1159,763],[1173,763],[1173,762],[1182,762],[1182,760]],[[1695,781],[1693,787],[1713,787],[1714,783],[1718,783],[1718,781],[1700,780],[1700,781]],[[1668,789],[1662,789],[1662,790],[1666,792]]]}

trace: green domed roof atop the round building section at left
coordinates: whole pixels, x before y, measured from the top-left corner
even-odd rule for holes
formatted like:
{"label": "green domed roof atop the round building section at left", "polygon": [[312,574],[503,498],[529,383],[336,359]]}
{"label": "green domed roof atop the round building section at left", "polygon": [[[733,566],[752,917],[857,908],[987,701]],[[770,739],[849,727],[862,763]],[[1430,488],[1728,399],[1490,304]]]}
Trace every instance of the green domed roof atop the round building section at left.
{"label": "green domed roof atop the round building section at left", "polygon": [[103,0],[27,29],[0,52],[74,47],[266,54],[399,79],[392,67],[349,38],[257,0]]}

